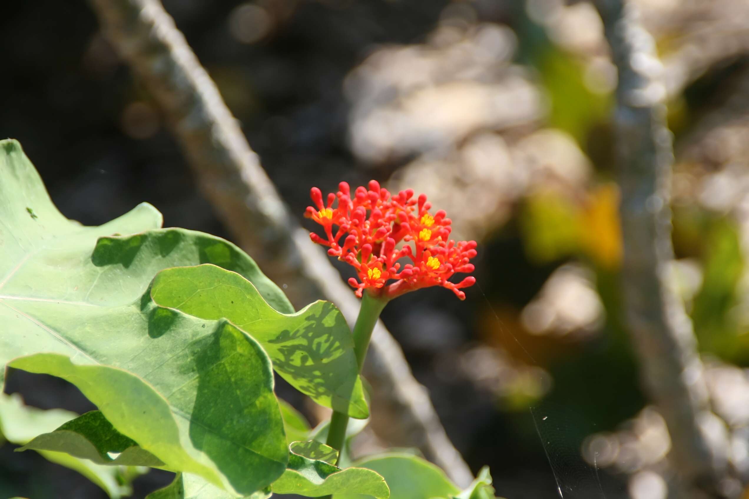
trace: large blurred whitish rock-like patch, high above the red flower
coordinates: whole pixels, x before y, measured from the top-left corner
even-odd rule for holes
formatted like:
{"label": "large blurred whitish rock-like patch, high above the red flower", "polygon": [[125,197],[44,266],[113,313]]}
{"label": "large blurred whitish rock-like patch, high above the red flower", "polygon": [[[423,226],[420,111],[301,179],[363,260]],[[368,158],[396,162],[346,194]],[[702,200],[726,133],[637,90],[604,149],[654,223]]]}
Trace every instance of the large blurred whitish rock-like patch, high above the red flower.
{"label": "large blurred whitish rock-like patch, high above the red flower", "polygon": [[509,63],[515,45],[504,26],[447,23],[427,43],[375,50],[345,80],[354,154],[376,165],[537,120],[540,94]]}

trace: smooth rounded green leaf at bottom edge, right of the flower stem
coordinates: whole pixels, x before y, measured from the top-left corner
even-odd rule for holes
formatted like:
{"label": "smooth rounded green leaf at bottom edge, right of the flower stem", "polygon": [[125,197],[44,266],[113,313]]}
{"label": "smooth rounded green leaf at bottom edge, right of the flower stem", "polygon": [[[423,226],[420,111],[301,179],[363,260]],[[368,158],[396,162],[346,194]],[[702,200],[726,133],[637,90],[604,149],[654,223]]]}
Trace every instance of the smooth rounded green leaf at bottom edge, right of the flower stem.
{"label": "smooth rounded green leaf at bottom edge, right of the flower stem", "polygon": [[[444,471],[425,459],[405,453],[388,453],[362,459],[360,468],[377,471],[390,488],[390,499],[449,498],[460,492]],[[336,494],[334,499],[359,499]]]}

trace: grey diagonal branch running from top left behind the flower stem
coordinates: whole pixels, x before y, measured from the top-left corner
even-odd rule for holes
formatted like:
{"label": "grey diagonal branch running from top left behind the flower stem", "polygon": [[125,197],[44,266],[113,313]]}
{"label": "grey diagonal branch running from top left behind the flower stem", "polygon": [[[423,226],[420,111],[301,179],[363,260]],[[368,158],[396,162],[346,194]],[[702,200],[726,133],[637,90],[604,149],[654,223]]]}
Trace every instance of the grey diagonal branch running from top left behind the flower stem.
{"label": "grey diagonal branch running from top left behind the flower stem", "polygon": [[[159,102],[198,185],[239,245],[296,304],[326,296],[350,323],[359,310],[327,255],[279,198],[216,85],[157,0],[90,0],[103,33]],[[292,284],[293,283],[293,284]],[[418,447],[461,486],[472,480],[425,389],[380,323],[364,374],[375,388],[373,424],[393,425],[389,443]]]}

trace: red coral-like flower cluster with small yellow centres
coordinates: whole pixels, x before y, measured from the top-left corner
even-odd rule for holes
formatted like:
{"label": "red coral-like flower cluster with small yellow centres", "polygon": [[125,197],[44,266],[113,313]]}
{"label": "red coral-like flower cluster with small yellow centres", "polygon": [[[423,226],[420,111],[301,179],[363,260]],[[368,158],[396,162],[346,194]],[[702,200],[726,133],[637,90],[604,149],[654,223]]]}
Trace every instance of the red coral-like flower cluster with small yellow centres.
{"label": "red coral-like flower cluster with small yellow centres", "polygon": [[[329,247],[331,257],[357,269],[359,281],[348,280],[357,296],[370,288],[391,299],[422,287],[442,286],[465,299],[461,288],[472,286],[476,278],[467,277],[459,283],[448,279],[456,272],[473,272],[469,260],[476,256],[476,241],[448,239],[450,219],[442,209],[431,215],[425,195],[414,199],[413,190],[408,189],[391,196],[375,180],[369,189],[358,187],[353,198],[348,183],[340,183],[339,189],[324,202],[320,189],[313,187],[311,197],[317,207],[308,206],[305,216],[321,224],[327,236],[324,239],[311,233],[312,241]],[[333,226],[338,227],[335,232]],[[396,248],[401,241],[406,244]],[[413,248],[408,244],[412,241]],[[401,268],[397,260],[402,257],[411,263]]]}

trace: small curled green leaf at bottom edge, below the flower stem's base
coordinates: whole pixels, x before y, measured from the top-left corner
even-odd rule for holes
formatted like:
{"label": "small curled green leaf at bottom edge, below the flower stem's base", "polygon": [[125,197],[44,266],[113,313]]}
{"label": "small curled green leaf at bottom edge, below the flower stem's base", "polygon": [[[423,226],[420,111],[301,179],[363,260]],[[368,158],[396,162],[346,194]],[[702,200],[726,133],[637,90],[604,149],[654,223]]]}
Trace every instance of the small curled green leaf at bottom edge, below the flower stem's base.
{"label": "small curled green leaf at bottom edge, below the flower stem's base", "polygon": [[274,494],[297,494],[309,498],[361,494],[388,499],[390,495],[385,480],[375,471],[365,468],[342,470],[327,462],[307,459],[295,453],[289,454],[288,469],[271,488]]}

